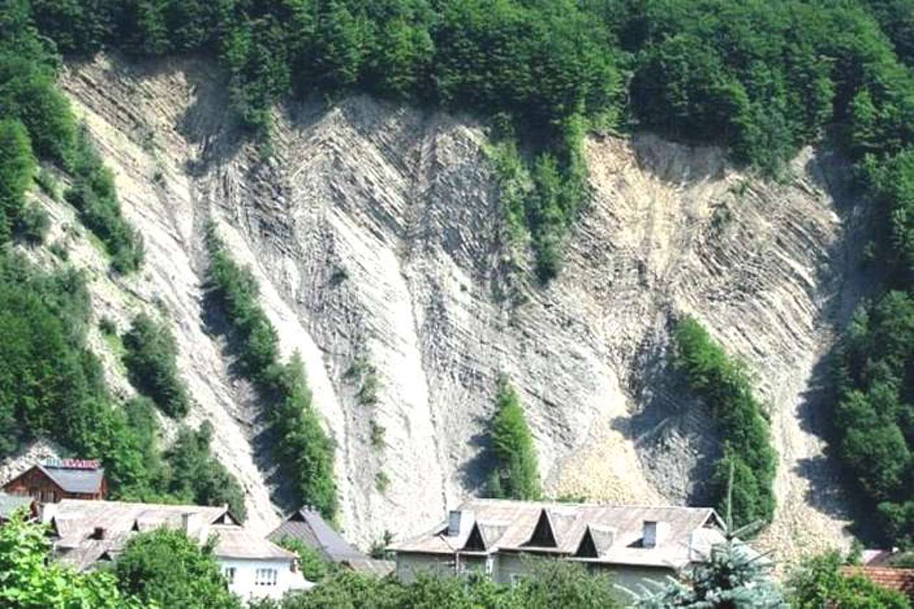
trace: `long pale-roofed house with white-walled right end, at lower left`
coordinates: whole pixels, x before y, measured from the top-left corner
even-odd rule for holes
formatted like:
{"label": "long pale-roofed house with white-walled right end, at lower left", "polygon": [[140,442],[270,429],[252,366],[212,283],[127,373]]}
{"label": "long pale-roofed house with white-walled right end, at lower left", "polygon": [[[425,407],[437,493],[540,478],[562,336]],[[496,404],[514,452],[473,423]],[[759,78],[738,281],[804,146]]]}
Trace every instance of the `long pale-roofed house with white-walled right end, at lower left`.
{"label": "long pale-roofed house with white-walled right end, at lower left", "polygon": [[182,529],[200,543],[217,539],[213,556],[242,598],[281,598],[314,585],[298,570],[298,557],[240,525],[225,506],[172,506],[63,499],[48,504],[41,519],[52,530],[54,554],[80,571],[117,558],[143,531]]}

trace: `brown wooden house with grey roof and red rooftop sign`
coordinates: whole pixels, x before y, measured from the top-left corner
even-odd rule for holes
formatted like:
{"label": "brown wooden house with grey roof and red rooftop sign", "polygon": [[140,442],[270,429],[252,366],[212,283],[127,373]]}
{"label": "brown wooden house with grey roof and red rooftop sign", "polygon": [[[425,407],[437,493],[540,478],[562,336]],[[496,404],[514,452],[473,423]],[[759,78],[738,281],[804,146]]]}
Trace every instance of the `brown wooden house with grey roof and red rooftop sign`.
{"label": "brown wooden house with grey roof and red rooftop sign", "polygon": [[3,489],[10,495],[33,497],[39,503],[104,499],[108,497],[108,480],[98,461],[63,459],[34,465],[7,482]]}

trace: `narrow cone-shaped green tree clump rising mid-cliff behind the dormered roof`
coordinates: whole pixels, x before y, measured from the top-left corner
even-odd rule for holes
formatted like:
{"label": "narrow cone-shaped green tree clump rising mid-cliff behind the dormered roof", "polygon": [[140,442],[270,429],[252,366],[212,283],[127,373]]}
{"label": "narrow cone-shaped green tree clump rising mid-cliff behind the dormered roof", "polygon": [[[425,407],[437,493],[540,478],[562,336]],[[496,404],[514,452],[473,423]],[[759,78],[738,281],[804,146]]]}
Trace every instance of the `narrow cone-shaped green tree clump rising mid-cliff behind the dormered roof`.
{"label": "narrow cone-shaped green tree clump rising mid-cliff behind the dormered roof", "polygon": [[537,447],[517,391],[506,377],[498,380],[496,400],[489,434],[497,465],[489,479],[489,494],[511,499],[538,499],[543,491]]}

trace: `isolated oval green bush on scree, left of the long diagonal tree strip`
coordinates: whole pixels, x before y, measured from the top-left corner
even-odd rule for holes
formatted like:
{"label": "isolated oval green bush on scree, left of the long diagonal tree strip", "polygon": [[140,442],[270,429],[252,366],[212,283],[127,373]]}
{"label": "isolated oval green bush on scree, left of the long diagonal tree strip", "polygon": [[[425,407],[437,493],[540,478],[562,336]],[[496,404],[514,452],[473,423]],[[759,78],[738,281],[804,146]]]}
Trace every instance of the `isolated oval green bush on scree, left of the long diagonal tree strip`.
{"label": "isolated oval green bush on scree, left of the long diagonal tree strip", "polygon": [[177,345],[168,325],[141,313],[123,335],[123,346],[123,363],[133,386],[168,416],[186,415],[190,399],[177,369]]}

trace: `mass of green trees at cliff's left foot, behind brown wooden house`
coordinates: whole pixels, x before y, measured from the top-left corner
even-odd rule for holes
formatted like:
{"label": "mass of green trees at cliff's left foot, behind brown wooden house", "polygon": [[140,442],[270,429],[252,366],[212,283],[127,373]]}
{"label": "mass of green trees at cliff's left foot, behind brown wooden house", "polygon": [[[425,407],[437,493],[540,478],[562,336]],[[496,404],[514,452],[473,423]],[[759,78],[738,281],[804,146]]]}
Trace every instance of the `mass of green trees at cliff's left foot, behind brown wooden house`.
{"label": "mass of green trees at cliff's left foot, behind brown wooden house", "polygon": [[163,451],[152,402],[112,398],[86,346],[89,325],[80,272],[43,272],[0,255],[0,458],[47,436],[71,454],[101,459],[113,497],[228,503],[244,518],[244,493],[210,454],[207,423]]}

